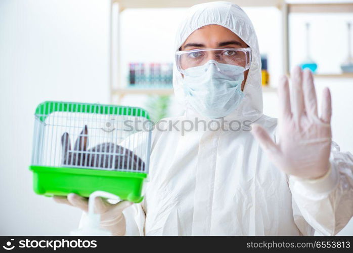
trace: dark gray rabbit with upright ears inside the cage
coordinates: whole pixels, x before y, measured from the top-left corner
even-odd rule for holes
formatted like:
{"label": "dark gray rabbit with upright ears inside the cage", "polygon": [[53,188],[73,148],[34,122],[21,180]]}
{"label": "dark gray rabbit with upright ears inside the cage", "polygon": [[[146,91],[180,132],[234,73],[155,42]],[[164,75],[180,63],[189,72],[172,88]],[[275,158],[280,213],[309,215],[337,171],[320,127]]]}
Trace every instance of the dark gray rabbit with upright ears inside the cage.
{"label": "dark gray rabbit with upright ears inside the cage", "polygon": [[71,142],[68,133],[64,133],[61,136],[61,145],[63,153],[63,165],[112,168],[114,163],[115,170],[145,170],[145,163],[140,157],[135,155],[133,151],[119,145],[115,145],[111,142],[98,144],[97,146],[87,150],[87,125],[84,126],[83,130],[78,136],[73,150],[71,150]]}

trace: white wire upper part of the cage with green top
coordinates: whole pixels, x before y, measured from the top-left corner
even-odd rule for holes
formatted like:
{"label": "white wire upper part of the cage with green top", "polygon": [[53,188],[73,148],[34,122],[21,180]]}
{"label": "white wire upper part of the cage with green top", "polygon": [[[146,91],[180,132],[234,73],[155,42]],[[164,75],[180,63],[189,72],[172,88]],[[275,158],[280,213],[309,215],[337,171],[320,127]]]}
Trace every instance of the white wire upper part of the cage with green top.
{"label": "white wire upper part of the cage with green top", "polygon": [[148,173],[151,130],[142,108],[43,102],[35,112],[32,165]]}

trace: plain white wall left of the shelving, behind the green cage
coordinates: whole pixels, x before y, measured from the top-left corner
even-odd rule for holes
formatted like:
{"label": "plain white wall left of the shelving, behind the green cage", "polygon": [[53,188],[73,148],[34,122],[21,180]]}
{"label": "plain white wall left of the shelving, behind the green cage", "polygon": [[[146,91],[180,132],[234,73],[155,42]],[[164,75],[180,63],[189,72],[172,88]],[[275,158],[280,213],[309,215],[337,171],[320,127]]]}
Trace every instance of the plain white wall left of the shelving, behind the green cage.
{"label": "plain white wall left of the shelving, behind the green cage", "polygon": [[0,235],[68,235],[81,212],[34,194],[35,107],[109,101],[109,1],[0,1]]}

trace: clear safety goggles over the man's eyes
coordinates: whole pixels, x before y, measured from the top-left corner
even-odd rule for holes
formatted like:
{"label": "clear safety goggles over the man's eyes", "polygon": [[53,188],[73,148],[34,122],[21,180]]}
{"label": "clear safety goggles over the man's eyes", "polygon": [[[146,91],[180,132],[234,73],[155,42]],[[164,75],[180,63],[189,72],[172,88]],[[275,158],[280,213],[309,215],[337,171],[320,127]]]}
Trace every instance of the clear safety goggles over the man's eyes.
{"label": "clear safety goggles over the man's eyes", "polygon": [[187,74],[186,69],[202,66],[209,60],[236,65],[244,68],[245,71],[250,67],[251,48],[193,49],[177,51],[175,57],[178,70],[183,74]]}

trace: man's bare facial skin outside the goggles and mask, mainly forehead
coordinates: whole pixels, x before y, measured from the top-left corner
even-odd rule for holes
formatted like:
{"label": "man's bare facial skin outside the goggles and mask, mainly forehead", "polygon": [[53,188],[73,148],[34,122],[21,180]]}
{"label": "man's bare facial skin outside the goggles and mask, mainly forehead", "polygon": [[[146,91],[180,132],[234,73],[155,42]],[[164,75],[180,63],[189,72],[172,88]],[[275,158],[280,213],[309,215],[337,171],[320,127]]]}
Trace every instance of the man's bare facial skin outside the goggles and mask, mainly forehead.
{"label": "man's bare facial skin outside the goggles and mask, mainly forehead", "polygon": [[[231,30],[220,25],[205,25],[185,40],[181,50],[193,50],[201,48],[247,48],[248,45]],[[244,72],[244,80],[241,83],[241,90],[244,89],[246,77],[249,70]]]}

